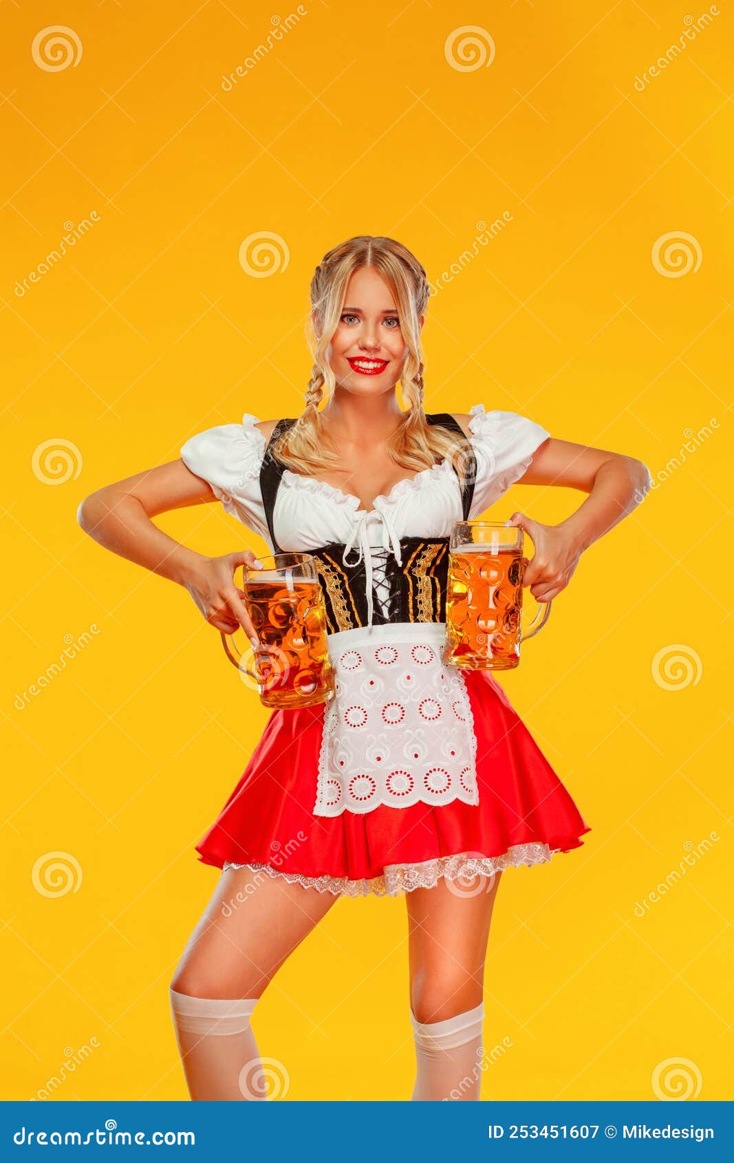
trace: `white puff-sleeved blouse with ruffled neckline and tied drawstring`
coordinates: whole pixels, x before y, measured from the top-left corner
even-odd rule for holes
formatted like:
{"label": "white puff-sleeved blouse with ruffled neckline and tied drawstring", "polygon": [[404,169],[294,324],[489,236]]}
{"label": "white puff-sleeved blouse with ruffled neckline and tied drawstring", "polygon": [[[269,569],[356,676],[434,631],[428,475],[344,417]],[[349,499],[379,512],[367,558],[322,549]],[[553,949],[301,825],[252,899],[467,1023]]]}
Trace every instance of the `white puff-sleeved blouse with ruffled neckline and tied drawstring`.
{"label": "white puff-sleeved blouse with ruffled neckline and tied drawstring", "polygon": [[[516,412],[470,408],[470,441],[477,475],[469,518],[479,516],[528,469],[533,452],[550,433]],[[206,480],[226,513],[259,534],[273,551],[259,488],[265,437],[250,413],[241,424],[218,424],[190,437],[180,449],[184,464]],[[450,461],[399,480],[387,494],[375,498],[372,509],[359,507],[359,498],[313,477],[286,469],[272,514],[273,528],[285,551],[308,552],[321,545],[343,544],[344,562],[356,552],[364,561],[368,625],[372,623],[372,585],[379,591],[384,564],[371,549],[391,549],[400,565],[401,537],[446,537],[463,519],[458,478]],[[350,562],[355,564],[355,562]]]}

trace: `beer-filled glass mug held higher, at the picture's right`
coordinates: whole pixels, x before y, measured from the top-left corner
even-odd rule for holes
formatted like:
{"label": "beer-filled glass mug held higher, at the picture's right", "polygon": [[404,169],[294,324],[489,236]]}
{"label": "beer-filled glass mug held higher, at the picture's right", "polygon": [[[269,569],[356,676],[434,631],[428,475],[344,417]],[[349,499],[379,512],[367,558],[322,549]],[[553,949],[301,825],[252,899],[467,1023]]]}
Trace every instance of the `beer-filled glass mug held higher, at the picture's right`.
{"label": "beer-filled glass mug held higher, at the picture's right", "polygon": [[539,602],[528,629],[522,626],[523,534],[503,521],[454,526],[442,655],[448,666],[511,670],[520,662],[520,642],[548,621],[550,602]]}

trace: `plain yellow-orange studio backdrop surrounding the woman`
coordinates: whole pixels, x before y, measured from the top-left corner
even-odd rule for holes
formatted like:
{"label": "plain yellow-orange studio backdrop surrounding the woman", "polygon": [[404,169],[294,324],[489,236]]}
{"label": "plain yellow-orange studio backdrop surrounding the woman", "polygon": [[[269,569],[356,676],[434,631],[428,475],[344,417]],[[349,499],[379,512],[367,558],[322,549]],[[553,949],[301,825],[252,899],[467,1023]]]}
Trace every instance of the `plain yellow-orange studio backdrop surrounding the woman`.
{"label": "plain yellow-orange studio backdrop surrounding the woman", "polygon": [[[642,91],[635,77],[707,9],[305,8],[227,92],[273,9],[3,7],[2,1097],[35,1096],[92,1037],[56,1097],[186,1097],[168,989],[218,877],[194,844],[268,715],[187,593],[102,551],[79,501],[245,411],[300,411],[308,284],[332,245],[394,236],[435,281],[503,212],[430,302],[427,409],[520,412],[643,459],[657,487],[500,676],[592,832],[503,878],[485,1041],[512,1044],[483,1097],[654,1098],[667,1059],[689,1059],[703,1099],[731,1097],[732,6]],[[81,57],[47,71],[33,40],[62,21]],[[444,44],[472,24],[496,55],[461,71]],[[19,295],[64,223],[92,212]],[[288,262],[255,278],[238,251],[262,231]],[[701,259],[682,277],[653,262],[672,231]],[[34,468],[47,441],[71,443],[67,473]],[[583,499],[516,486],[493,515],[554,523]],[[157,523],[205,554],[264,548],[219,505]],[[668,647],[693,676],[674,690],[654,676]],[[33,869],[51,851],[81,880],[49,897]],[[407,1098],[404,900],[339,901],[266,991],[256,1033],[287,1099]]]}

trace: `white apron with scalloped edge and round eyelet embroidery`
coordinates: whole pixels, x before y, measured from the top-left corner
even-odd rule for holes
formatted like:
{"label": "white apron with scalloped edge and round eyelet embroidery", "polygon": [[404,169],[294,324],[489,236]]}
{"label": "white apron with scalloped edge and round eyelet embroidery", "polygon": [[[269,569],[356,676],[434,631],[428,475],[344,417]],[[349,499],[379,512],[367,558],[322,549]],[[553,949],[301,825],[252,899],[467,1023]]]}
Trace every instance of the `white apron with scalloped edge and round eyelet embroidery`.
{"label": "white apron with scalloped edge and round eyelet embroidery", "polygon": [[372,629],[385,633],[329,637],[335,695],[325,711],[314,814],[478,804],[471,704],[462,672],[441,662],[443,625]]}

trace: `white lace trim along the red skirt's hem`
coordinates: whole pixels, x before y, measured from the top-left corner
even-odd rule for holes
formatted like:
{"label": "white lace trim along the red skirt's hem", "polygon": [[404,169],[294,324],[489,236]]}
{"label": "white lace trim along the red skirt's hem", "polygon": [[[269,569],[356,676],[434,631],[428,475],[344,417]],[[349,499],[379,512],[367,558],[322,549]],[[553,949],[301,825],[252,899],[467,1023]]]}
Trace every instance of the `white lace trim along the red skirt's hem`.
{"label": "white lace trim along the red skirt's hem", "polygon": [[[235,864],[225,861],[222,872],[227,869],[250,869],[252,872],[265,872],[268,876],[284,877],[288,884],[301,884],[305,889],[318,889],[319,892],[344,893],[349,897],[365,897],[375,893],[378,897],[394,897],[399,892],[411,892],[413,889],[433,889],[440,877],[457,880],[462,877],[492,876],[507,868],[520,864],[543,864],[561,848],[549,848],[548,844],[513,844],[501,856],[479,856],[476,852],[457,852],[454,856],[439,856],[432,861],[416,864],[387,864],[383,876],[350,880],[348,877],[301,876],[300,872],[284,872],[270,864]],[[470,897],[477,892],[476,885],[456,889],[457,897]]]}

